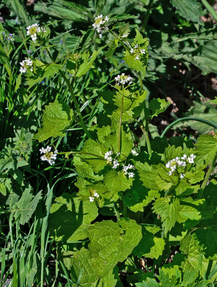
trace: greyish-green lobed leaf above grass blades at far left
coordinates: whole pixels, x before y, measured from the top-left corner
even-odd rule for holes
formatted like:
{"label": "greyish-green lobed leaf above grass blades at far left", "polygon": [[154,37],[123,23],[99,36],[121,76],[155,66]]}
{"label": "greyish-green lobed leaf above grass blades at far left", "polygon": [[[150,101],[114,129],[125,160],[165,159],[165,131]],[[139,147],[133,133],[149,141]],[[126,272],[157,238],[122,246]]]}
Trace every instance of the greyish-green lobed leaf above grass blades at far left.
{"label": "greyish-green lobed leaf above grass blades at far left", "polygon": [[10,217],[17,219],[20,215],[20,224],[24,224],[29,221],[36,209],[36,206],[38,205],[38,202],[42,198],[41,191],[39,191],[36,195],[30,193],[30,191],[31,186],[29,185],[24,189],[20,199],[10,208]]}

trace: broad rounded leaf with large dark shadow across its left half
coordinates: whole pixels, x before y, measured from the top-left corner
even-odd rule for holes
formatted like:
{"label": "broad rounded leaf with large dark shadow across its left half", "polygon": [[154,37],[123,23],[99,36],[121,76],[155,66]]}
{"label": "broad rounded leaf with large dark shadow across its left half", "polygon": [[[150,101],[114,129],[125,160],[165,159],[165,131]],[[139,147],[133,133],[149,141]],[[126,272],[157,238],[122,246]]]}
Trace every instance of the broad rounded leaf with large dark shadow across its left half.
{"label": "broad rounded leaf with large dark shadow across its left half", "polygon": [[[87,237],[90,223],[98,216],[94,202],[81,201],[76,193],[63,193],[51,205],[50,228],[55,241],[78,241]],[[73,222],[73,224],[72,224]]]}

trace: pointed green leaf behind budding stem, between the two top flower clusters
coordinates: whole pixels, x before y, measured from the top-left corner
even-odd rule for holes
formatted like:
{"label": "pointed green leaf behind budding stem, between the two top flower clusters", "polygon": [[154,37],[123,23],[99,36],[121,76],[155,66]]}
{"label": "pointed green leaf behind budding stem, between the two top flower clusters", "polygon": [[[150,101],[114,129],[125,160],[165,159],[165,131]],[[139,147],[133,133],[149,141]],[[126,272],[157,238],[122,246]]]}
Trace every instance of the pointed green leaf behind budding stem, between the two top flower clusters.
{"label": "pointed green leaf behind budding stem, between the two top flower clusters", "polygon": [[83,54],[79,53],[79,60],[76,62],[73,58],[69,59],[66,62],[66,69],[69,71],[69,73],[72,73],[73,77],[75,78],[84,76],[90,70],[90,68],[94,67],[93,62],[101,50],[102,48],[100,48],[98,51],[94,50],[91,56],[89,52],[86,53],[84,51]]}

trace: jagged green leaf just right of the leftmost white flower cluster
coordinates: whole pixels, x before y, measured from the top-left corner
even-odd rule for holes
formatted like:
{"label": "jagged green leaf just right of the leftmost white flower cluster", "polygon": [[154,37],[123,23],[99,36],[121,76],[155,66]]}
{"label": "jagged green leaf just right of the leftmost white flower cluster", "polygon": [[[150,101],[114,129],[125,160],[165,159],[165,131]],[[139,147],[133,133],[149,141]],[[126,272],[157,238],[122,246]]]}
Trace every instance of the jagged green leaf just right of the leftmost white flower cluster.
{"label": "jagged green leaf just right of the leftmost white flower cluster", "polygon": [[42,63],[38,59],[35,59],[33,72],[28,73],[27,85],[29,85],[29,87],[27,91],[35,84],[38,84],[43,81],[45,77],[52,77],[54,74],[59,73],[59,70],[62,69],[62,65],[53,63],[49,65],[44,65],[44,63]]}

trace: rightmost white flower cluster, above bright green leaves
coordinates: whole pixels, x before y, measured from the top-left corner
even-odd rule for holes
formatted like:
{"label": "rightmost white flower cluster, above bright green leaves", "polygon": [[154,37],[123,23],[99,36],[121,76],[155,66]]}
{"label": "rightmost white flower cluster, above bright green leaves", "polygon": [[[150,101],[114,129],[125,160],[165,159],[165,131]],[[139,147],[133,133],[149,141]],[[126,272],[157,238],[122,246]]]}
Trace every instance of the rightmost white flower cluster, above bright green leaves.
{"label": "rightmost white flower cluster, above bright green leaves", "polygon": [[[167,172],[169,175],[172,175],[172,173],[177,170],[179,166],[186,166],[187,163],[194,163],[194,158],[196,156],[194,154],[190,154],[190,156],[187,156],[184,154],[181,158],[178,156],[176,158],[173,158],[172,160],[168,161],[166,163],[166,168],[170,168],[170,171]],[[184,173],[180,174],[180,178],[183,179],[185,177]]]}

